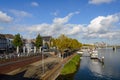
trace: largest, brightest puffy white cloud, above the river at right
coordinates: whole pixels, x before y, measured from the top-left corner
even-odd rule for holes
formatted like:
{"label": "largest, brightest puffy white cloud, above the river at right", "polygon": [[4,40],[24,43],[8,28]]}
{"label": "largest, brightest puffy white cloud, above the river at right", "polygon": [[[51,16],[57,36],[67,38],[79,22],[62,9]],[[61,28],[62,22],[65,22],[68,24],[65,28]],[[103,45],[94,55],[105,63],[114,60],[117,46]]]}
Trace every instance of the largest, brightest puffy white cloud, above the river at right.
{"label": "largest, brightest puffy white cloud, above the river at right", "polygon": [[120,14],[108,15],[107,17],[98,16],[88,25],[89,33],[104,33],[114,27],[119,22]]}

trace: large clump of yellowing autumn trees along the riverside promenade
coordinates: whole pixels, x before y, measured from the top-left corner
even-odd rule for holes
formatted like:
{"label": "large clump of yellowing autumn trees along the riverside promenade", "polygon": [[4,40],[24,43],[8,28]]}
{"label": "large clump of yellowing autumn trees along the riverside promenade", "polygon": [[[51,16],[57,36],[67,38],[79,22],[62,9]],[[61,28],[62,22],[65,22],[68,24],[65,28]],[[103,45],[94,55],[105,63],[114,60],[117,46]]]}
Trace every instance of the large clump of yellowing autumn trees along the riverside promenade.
{"label": "large clump of yellowing autumn trees along the riverside promenade", "polygon": [[64,51],[65,49],[80,49],[82,47],[82,44],[78,42],[78,40],[69,38],[64,34],[60,35],[56,39],[52,39],[52,41],[53,46],[58,47],[60,51]]}

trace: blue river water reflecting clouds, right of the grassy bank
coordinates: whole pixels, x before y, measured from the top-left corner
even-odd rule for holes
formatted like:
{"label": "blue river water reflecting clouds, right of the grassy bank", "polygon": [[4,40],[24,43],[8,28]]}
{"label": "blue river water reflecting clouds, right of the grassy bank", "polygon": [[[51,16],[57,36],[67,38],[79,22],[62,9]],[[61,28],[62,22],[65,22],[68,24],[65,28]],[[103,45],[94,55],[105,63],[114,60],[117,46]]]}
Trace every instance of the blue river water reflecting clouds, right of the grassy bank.
{"label": "blue river water reflecting clouds, right of the grassy bank", "polygon": [[104,56],[104,64],[82,57],[74,80],[120,80],[120,49],[98,49],[98,56]]}

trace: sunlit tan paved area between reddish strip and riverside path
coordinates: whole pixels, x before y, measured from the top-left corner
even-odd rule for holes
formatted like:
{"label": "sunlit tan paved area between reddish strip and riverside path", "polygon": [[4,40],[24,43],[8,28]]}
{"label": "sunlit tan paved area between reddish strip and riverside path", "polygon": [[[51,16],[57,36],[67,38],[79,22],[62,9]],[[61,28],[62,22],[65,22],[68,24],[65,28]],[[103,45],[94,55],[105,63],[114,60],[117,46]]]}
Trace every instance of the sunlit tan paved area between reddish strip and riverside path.
{"label": "sunlit tan paved area between reddish strip and riverside path", "polygon": [[[20,67],[20,68],[13,70],[7,74],[16,75],[18,73],[25,71],[25,74],[23,75],[24,77],[28,77],[28,78],[29,77],[37,77],[40,79],[41,76],[44,75],[43,74],[43,67],[44,67],[44,73],[45,73],[49,70],[49,68],[52,69],[52,67],[54,67],[60,61],[61,61],[61,58],[49,57],[49,58],[46,58],[44,60],[40,60],[40,61],[34,62],[32,64],[29,64],[27,66]],[[36,76],[34,76],[34,75],[36,75]]]}

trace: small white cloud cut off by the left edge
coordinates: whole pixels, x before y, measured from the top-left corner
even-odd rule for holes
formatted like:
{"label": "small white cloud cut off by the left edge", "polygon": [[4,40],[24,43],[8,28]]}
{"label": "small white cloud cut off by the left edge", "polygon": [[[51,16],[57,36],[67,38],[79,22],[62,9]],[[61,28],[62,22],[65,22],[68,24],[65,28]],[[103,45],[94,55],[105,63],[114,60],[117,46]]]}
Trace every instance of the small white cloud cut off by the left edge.
{"label": "small white cloud cut off by the left edge", "polygon": [[0,11],[0,22],[8,23],[13,20],[12,17],[8,16],[6,13]]}

